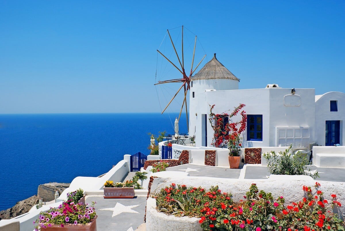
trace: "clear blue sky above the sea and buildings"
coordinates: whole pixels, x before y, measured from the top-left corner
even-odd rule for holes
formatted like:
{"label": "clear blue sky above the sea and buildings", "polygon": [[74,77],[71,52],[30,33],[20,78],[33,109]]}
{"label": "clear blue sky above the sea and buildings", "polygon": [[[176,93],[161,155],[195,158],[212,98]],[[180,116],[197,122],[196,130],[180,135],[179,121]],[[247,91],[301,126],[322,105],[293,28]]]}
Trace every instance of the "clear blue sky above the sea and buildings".
{"label": "clear blue sky above the sea and buildings", "polygon": [[159,112],[156,49],[181,25],[240,89],[345,92],[343,0],[0,0],[0,113]]}

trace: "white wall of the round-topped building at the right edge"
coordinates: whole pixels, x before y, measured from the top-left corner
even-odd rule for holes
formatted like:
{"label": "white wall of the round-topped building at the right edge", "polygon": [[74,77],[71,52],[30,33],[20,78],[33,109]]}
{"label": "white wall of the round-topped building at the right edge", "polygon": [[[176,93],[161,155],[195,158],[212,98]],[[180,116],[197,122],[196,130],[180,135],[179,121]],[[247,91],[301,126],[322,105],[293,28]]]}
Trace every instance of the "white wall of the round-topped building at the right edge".
{"label": "white wall of the round-topped building at the right edge", "polygon": [[[345,144],[345,94],[327,92],[315,97],[315,140],[318,145],[325,145],[326,120],[340,120],[340,145]],[[330,110],[330,101],[338,101],[338,111]]]}

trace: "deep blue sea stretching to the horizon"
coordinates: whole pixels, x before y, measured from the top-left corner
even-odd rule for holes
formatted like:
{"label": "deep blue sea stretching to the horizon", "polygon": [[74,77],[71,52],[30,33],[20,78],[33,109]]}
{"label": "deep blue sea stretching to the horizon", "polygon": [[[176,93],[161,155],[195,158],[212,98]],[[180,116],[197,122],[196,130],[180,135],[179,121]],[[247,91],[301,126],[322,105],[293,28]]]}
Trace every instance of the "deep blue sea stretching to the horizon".
{"label": "deep blue sea stretching to the horizon", "polygon": [[[0,210],[37,194],[39,184],[97,177],[124,154],[149,154],[151,132],[174,134],[178,114],[0,114]],[[187,133],[182,114],[180,133]]]}

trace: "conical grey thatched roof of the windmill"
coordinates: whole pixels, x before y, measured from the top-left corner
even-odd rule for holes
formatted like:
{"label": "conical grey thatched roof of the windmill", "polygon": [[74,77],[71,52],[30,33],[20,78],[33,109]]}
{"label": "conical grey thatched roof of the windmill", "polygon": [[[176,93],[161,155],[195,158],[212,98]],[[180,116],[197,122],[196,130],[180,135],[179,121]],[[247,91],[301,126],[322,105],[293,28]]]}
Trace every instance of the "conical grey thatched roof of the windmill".
{"label": "conical grey thatched roof of the windmill", "polygon": [[233,73],[217,60],[216,53],[215,56],[191,78],[192,81],[201,79],[231,79],[239,81]]}

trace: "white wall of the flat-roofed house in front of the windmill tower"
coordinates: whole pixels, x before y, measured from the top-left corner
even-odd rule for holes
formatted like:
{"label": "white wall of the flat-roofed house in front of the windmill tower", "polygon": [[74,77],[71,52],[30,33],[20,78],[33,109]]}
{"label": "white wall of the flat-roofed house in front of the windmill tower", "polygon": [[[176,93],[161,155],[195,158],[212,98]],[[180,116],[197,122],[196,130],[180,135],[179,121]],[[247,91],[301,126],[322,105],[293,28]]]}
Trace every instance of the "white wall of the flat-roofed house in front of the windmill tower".
{"label": "white wall of the flat-roofed house in front of the windmill tower", "polygon": [[[276,127],[309,127],[309,141],[313,142],[315,139],[315,90],[295,90],[295,96],[291,94],[290,88],[243,89],[200,93],[200,98],[196,102],[197,116],[190,113],[190,121],[194,120],[196,126],[196,146],[203,145],[202,133],[205,124],[202,116],[207,114],[208,120],[209,105],[216,104],[213,112],[221,114],[224,112],[231,113],[233,108],[240,103],[246,104],[244,108],[246,114],[263,115],[263,141],[247,141],[244,142],[244,147],[277,146]],[[232,119],[233,121],[239,121],[241,117],[237,115]],[[213,129],[207,121],[207,146],[211,146],[213,133]],[[247,131],[243,133],[243,138],[244,141],[247,140]]]}

